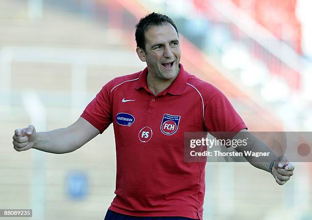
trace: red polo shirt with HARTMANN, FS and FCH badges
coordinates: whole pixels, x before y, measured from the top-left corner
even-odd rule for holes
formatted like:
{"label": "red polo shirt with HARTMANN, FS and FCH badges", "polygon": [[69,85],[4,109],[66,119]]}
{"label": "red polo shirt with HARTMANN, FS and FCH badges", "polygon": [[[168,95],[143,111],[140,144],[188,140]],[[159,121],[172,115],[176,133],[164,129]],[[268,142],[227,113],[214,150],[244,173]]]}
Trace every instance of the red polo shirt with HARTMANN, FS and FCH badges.
{"label": "red polo shirt with HARTMANN, FS and FCH badges", "polygon": [[247,128],[220,90],[179,67],[173,83],[157,96],[147,86],[147,68],[117,77],[81,115],[100,133],[114,125],[112,211],[202,219],[205,163],[184,162],[184,132]]}

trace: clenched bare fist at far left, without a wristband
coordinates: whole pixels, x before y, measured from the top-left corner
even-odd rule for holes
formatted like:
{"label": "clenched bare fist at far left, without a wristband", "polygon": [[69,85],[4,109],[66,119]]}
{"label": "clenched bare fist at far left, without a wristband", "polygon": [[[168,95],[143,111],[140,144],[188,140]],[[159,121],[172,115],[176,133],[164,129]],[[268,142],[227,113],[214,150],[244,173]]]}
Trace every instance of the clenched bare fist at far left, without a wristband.
{"label": "clenched bare fist at far left, without a wristband", "polygon": [[37,133],[34,125],[28,128],[16,129],[13,136],[13,147],[17,151],[28,150],[32,148],[37,140]]}

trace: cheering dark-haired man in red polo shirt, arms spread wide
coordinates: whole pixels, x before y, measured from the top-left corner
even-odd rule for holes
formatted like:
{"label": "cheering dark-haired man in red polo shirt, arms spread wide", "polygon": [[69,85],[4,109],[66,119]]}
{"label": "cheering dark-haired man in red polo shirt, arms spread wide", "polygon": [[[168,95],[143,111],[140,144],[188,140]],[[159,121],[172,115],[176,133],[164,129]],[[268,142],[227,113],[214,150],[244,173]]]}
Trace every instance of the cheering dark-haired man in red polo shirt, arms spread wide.
{"label": "cheering dark-haired man in red polo shirt, arms spread wide", "polygon": [[[36,133],[30,125],[15,130],[14,148],[71,152],[113,122],[116,197],[105,219],[202,219],[205,163],[184,162],[184,132],[234,132],[240,138],[249,135],[247,127],[221,91],[179,64],[178,30],[169,17],[151,13],[142,18],[136,42],[147,68],[104,85],[68,128]],[[254,143],[237,150],[268,150],[262,142]],[[266,171],[274,165],[279,184],[293,175],[294,166],[284,158],[246,159]]]}

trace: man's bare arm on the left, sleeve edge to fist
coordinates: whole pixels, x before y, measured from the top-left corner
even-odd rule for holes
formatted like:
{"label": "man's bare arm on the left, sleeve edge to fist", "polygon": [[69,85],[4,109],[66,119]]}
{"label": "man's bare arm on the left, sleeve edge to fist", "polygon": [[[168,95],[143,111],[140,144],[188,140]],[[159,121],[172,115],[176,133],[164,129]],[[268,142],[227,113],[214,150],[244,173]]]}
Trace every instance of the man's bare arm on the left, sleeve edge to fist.
{"label": "man's bare arm on the left, sleeve edge to fist", "polygon": [[13,147],[17,151],[35,148],[49,153],[72,152],[100,132],[86,119],[80,117],[67,128],[49,132],[36,132],[35,127],[16,129],[13,136]]}

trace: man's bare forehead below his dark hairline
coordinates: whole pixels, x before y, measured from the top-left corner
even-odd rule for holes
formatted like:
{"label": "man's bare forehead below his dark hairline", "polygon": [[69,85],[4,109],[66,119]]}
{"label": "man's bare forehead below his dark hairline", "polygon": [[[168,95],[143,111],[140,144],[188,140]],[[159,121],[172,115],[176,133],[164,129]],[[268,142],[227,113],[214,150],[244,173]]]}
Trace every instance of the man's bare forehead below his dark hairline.
{"label": "man's bare forehead below his dark hairline", "polygon": [[172,40],[178,40],[176,30],[170,23],[158,26],[150,26],[145,32],[145,43],[165,43]]}

